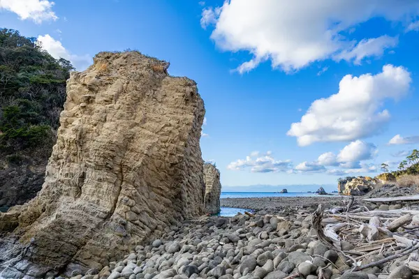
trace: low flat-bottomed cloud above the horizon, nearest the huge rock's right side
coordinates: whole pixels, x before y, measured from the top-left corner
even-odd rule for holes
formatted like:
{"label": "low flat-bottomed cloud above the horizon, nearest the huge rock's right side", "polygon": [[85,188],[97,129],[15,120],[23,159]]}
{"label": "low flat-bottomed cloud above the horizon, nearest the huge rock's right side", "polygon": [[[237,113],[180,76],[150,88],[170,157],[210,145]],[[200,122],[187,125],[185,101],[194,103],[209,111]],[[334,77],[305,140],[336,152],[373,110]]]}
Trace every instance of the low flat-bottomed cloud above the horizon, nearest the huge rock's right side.
{"label": "low flat-bottomed cloud above the horizon, nearest the huge rock's right side", "polygon": [[291,169],[291,160],[275,160],[271,155],[272,152],[267,151],[263,156],[259,156],[257,151],[253,151],[251,156],[247,156],[246,159],[236,160],[231,162],[227,169],[232,170],[247,170],[251,172],[286,172]]}

